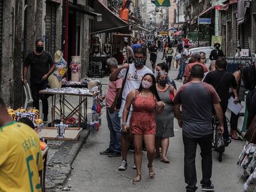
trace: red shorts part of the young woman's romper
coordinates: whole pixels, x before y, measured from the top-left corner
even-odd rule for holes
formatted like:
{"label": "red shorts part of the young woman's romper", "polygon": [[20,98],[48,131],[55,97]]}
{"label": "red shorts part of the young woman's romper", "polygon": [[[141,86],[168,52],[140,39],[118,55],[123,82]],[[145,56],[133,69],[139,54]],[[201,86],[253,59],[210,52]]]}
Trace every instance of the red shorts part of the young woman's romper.
{"label": "red shorts part of the young woman's romper", "polygon": [[134,135],[156,135],[156,122],[154,114],[145,114],[143,119],[140,117],[143,112],[134,112],[130,119],[130,130]]}

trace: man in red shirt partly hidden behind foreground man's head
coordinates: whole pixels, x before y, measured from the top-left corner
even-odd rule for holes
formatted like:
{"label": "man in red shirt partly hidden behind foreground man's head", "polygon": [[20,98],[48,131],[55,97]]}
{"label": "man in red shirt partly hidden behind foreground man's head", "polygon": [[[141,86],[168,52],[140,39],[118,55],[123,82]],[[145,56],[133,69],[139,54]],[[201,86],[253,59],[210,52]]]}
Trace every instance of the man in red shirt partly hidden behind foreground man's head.
{"label": "man in red shirt partly hidden behind foreground man's head", "polygon": [[187,82],[190,81],[190,71],[191,71],[191,69],[194,65],[197,65],[197,64],[201,65],[203,67],[204,72],[205,73],[208,72],[207,66],[205,64],[202,64],[200,62],[200,59],[201,59],[201,56],[200,56],[199,52],[193,52],[192,53],[191,59],[190,59],[190,60],[192,60],[192,63],[188,64],[186,69],[185,69],[185,72],[184,72],[184,75],[183,75],[183,77],[185,77],[184,81],[183,81],[183,84],[186,84]]}

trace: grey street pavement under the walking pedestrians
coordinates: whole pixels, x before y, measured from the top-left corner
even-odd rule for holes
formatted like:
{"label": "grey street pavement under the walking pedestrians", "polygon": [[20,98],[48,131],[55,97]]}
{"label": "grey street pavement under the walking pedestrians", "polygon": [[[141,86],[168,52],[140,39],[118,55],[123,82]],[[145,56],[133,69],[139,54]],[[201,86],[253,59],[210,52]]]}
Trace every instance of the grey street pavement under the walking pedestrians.
{"label": "grey street pavement under the walking pedestrians", "polygon": [[[161,55],[158,54],[158,62],[161,62]],[[147,60],[147,66],[150,67],[150,61]],[[151,67],[150,67],[151,69]],[[172,69],[169,77],[176,78],[177,70]],[[103,90],[108,84],[108,77],[102,79]],[[177,82],[177,87],[182,85]],[[105,84],[105,85],[104,85]],[[202,106],[203,107],[203,106]],[[142,160],[142,180],[139,183],[132,183],[135,177],[135,170],[132,169],[133,152],[128,154],[128,168],[125,171],[119,171],[117,168],[121,163],[121,157],[109,158],[100,155],[99,152],[108,148],[109,130],[106,121],[106,109],[103,109],[102,125],[100,131],[91,134],[83,144],[77,158],[72,165],[70,178],[66,183],[72,191],[161,191],[161,192],[181,192],[186,191],[184,182],[184,147],[182,143],[182,130],[174,120],[174,138],[170,139],[168,158],[170,164],[164,164],[159,159],[153,162],[155,170],[155,179],[148,177],[147,156],[143,152]],[[237,158],[242,151],[244,142],[233,141],[223,154],[223,162],[218,162],[217,154],[213,151],[213,175],[212,182],[215,185],[215,191],[221,192],[241,192],[242,182],[237,180],[237,173],[241,169],[237,167]],[[200,180],[202,179],[200,148],[197,149],[197,179],[198,191],[201,191]],[[238,182],[237,182],[238,181]]]}

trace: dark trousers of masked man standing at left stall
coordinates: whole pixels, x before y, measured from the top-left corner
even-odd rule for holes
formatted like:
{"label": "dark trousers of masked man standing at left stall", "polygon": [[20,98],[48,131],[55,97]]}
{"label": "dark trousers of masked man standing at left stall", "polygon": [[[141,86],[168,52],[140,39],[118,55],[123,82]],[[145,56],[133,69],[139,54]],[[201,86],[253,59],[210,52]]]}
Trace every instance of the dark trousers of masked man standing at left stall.
{"label": "dark trousers of masked man standing at left stall", "polygon": [[48,116],[48,96],[46,94],[39,94],[39,91],[45,90],[47,88],[47,85],[48,81],[43,81],[39,84],[30,81],[30,89],[33,98],[33,107],[39,110],[39,99],[41,98],[43,104],[44,118]]}

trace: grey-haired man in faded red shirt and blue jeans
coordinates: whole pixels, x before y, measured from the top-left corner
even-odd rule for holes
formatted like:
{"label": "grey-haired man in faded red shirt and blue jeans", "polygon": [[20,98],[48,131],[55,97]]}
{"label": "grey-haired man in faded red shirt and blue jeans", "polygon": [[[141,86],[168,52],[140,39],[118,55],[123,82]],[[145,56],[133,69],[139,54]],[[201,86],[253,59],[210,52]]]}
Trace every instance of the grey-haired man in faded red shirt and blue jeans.
{"label": "grey-haired man in faded red shirt and blue jeans", "polygon": [[[107,64],[110,72],[117,69],[117,60],[109,58]],[[121,156],[121,122],[118,117],[119,110],[116,109],[116,101],[121,93],[122,78],[116,81],[109,81],[105,96],[101,99],[106,99],[106,118],[110,131],[109,148],[101,151],[100,154],[108,155],[108,157]]]}

